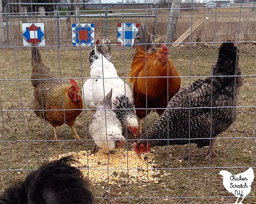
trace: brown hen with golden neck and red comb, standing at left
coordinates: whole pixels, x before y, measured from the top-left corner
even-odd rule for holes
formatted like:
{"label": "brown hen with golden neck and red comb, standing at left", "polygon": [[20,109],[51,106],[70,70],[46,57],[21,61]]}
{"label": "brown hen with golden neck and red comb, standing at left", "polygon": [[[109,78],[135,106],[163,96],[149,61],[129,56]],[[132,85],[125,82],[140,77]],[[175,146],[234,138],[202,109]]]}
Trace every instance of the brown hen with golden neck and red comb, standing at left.
{"label": "brown hen with golden neck and red comb, standing at left", "polygon": [[[83,108],[83,99],[80,97],[81,90],[79,90],[73,79],[53,79],[57,77],[50,73],[50,69],[43,64],[41,53],[37,47],[32,46],[31,53],[31,82],[35,87],[32,109],[38,117],[47,120],[54,127],[54,140],[58,140],[56,127],[64,123],[72,128],[75,139],[81,139],[74,128],[76,117],[78,117]],[[57,111],[63,110],[63,106],[65,111]],[[50,109],[54,110],[50,111]]]}

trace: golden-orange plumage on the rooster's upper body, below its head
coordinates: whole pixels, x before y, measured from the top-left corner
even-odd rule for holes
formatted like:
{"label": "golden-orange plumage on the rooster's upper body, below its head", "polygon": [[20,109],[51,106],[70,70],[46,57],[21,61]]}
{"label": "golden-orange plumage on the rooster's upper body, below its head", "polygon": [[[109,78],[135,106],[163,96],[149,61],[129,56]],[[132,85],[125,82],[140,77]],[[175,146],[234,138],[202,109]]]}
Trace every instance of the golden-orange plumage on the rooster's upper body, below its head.
{"label": "golden-orange plumage on the rooster's upper body, below its head", "polygon": [[[138,46],[134,53],[134,60],[132,61],[131,66],[132,70],[129,75],[129,77],[156,77],[147,78],[147,96],[150,98],[158,97],[167,91],[167,77],[159,76],[179,76],[170,59],[168,59],[168,68],[167,62],[162,64],[156,57],[158,52],[147,54],[145,56],[144,49]],[[145,59],[147,60],[146,62]],[[146,78],[130,78],[129,80],[137,87],[139,93],[143,95],[146,94]],[[169,78],[168,81],[169,92],[171,90],[177,92],[180,88],[180,78]]]}

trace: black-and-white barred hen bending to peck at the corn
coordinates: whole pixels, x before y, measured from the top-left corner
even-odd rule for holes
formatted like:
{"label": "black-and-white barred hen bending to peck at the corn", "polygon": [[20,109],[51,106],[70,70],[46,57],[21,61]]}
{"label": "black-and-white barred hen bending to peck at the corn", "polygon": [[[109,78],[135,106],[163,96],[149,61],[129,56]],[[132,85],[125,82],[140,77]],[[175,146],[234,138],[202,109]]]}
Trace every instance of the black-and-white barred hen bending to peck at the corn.
{"label": "black-and-white barred hen bending to peck at the corn", "polygon": [[134,143],[139,157],[141,153],[150,151],[152,146],[189,142],[197,144],[190,156],[195,156],[198,149],[208,145],[209,152],[200,155],[207,155],[206,158],[215,155],[215,137],[236,119],[233,106],[236,106],[243,84],[238,55],[239,51],[233,43],[226,42],[220,46],[218,60],[212,66],[213,78],[198,79],[171,99],[163,115],[148,129],[147,134],[141,136],[144,140]]}

